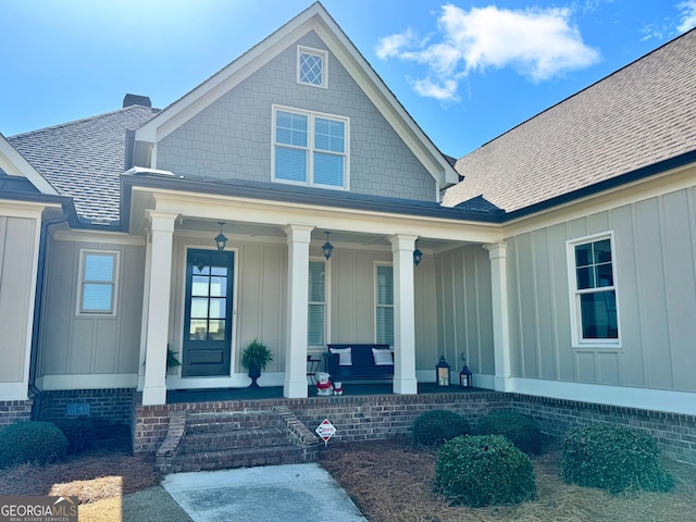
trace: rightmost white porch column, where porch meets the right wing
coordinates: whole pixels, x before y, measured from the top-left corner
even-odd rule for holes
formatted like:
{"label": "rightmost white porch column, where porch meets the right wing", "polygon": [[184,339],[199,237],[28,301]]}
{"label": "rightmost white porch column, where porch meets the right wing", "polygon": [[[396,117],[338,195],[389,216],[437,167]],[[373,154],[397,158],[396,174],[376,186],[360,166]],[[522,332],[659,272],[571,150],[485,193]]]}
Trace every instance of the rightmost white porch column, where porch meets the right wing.
{"label": "rightmost white porch column, where porch meets the right wing", "polygon": [[506,243],[484,247],[490,260],[490,291],[493,297],[493,346],[496,365],[496,391],[511,391],[510,384],[510,322],[508,312],[508,275]]}

